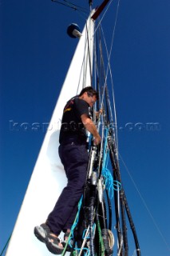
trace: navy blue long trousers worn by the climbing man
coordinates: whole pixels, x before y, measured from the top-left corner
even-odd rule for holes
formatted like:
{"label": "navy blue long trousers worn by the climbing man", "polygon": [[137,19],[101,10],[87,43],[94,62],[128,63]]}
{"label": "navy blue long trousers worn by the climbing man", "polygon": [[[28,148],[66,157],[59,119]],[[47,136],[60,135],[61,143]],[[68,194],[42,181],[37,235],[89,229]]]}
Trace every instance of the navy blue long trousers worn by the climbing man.
{"label": "navy blue long trousers worn by the climbing man", "polygon": [[46,224],[54,234],[65,232],[73,225],[79,202],[85,187],[85,179],[89,162],[89,154],[85,143],[61,143],[59,156],[68,178],[67,186],[62,190]]}

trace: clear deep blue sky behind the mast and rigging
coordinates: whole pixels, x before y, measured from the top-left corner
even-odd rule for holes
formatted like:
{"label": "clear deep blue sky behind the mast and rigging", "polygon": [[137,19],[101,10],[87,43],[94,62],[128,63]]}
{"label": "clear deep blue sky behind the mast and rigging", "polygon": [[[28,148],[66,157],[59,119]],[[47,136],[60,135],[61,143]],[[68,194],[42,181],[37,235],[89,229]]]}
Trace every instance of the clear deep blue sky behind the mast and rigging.
{"label": "clear deep blue sky behind the mast and rigging", "polygon": [[[116,6],[103,21],[106,38]],[[120,160],[121,176],[144,256],[170,254],[169,10],[168,0],[121,0],[111,59],[119,151],[127,166]],[[76,22],[82,29],[85,17],[49,0],[0,1],[0,252],[77,44],[66,28]],[[41,129],[33,129],[35,122]]]}

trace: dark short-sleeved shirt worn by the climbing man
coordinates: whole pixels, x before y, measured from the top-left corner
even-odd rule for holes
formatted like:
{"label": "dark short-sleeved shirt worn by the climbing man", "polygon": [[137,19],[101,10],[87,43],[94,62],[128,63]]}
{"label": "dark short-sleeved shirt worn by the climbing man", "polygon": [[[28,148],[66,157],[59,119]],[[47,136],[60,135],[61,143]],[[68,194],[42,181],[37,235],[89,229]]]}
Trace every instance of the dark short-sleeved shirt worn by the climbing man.
{"label": "dark short-sleeved shirt worn by the climbing man", "polygon": [[71,98],[65,105],[61,121],[59,142],[66,142],[69,138],[76,138],[80,142],[86,141],[85,126],[81,122],[81,115],[89,118],[89,104],[83,99]]}

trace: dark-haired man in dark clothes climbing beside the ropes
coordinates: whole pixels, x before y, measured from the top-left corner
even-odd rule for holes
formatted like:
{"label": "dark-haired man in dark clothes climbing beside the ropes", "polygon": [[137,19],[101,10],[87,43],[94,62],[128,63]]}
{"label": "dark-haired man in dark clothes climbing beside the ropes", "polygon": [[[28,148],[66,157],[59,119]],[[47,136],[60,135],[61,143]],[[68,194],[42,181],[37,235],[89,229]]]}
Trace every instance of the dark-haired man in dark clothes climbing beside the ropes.
{"label": "dark-haired man in dark clothes climbing beside the ropes", "polygon": [[[83,194],[89,162],[86,130],[93,134],[96,145],[101,142],[101,136],[89,115],[89,108],[97,99],[97,91],[91,86],[85,87],[66,103],[63,111],[58,151],[68,183],[46,222],[34,228],[36,237],[45,242],[53,254],[61,254],[64,250],[77,214],[77,203]],[[61,231],[65,233],[63,243],[58,238]]]}

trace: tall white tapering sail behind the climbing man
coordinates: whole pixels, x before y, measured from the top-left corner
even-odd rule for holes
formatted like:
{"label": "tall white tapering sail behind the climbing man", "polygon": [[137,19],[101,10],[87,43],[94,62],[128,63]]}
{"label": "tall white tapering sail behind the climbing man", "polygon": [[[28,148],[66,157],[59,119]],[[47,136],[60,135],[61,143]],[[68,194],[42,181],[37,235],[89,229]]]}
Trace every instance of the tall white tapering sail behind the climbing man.
{"label": "tall white tapering sail behind the climbing man", "polygon": [[45,244],[34,236],[34,226],[45,222],[66,184],[65,171],[57,152],[62,110],[69,98],[78,94],[83,87],[91,86],[92,56],[93,20],[89,18],[61,88],[6,256],[51,255]]}

